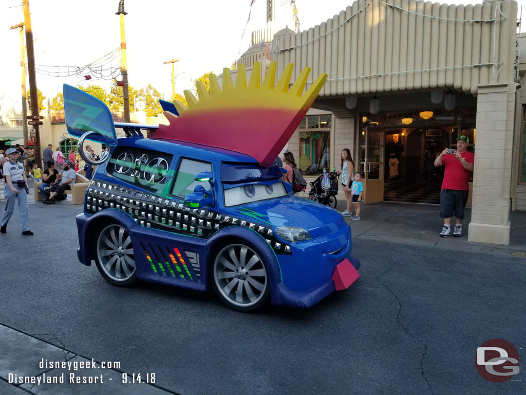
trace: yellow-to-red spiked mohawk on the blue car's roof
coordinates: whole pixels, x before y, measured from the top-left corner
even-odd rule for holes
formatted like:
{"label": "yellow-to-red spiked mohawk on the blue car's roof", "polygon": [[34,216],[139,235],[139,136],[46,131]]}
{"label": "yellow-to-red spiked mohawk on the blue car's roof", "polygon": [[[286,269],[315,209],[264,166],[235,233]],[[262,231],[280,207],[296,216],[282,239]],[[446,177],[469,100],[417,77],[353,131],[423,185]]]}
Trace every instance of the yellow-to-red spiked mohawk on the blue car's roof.
{"label": "yellow-to-red spiked mohawk on the blue car's roof", "polygon": [[287,64],[275,84],[276,62],[271,62],[261,83],[261,64],[255,62],[247,84],[245,66],[239,64],[235,86],[225,68],[222,89],[210,74],[210,93],[197,81],[199,100],[185,91],[188,107],[175,101],[179,116],[165,111],[170,124],[159,125],[150,137],[237,151],[254,157],[261,166],[270,166],[327,80],[327,74],[321,74],[302,94],[310,68],[305,67],[289,89],[293,67]]}

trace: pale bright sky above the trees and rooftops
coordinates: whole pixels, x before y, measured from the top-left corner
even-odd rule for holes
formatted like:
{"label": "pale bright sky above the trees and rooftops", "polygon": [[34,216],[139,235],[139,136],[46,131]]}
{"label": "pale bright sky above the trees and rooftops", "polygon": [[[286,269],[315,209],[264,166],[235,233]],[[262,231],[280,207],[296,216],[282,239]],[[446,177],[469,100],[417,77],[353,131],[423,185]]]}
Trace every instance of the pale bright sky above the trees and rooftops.
{"label": "pale bright sky above the trees and rooftops", "polygon": [[[276,0],[276,3],[290,0]],[[526,1],[526,0],[524,0]],[[135,89],[148,83],[165,98],[171,96],[171,65],[175,63],[175,91],[193,87],[191,79],[213,71],[222,73],[248,50],[250,34],[266,27],[266,0],[125,0],[124,17],[128,81]],[[481,1],[480,1],[481,2]],[[35,45],[35,63],[45,66],[84,66],[120,47],[118,0],[29,0]],[[476,0],[455,2],[476,4]],[[327,21],[352,0],[296,0],[300,29]],[[519,12],[520,12],[519,2]],[[247,19],[250,12],[250,21]],[[292,16],[290,15],[292,21]],[[21,0],[0,0],[0,110],[21,102],[20,43],[23,22]],[[292,23],[291,23],[292,24]],[[290,26],[294,29],[294,26]],[[241,40],[243,30],[244,38]],[[115,61],[118,67],[118,59]],[[39,67],[66,72],[64,67]],[[102,85],[104,80],[85,81],[77,76],[36,74],[37,87],[47,98],[62,92],[62,84]],[[29,88],[28,80],[26,82]],[[132,98],[130,98],[132,100]]]}

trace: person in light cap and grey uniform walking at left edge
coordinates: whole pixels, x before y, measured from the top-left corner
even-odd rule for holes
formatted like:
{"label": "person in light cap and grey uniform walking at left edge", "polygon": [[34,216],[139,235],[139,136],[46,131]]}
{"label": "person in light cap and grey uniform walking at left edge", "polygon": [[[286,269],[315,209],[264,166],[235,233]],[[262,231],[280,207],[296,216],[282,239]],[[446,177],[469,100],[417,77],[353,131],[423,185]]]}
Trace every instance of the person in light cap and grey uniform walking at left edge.
{"label": "person in light cap and grey uniform walking at left edge", "polygon": [[18,211],[20,212],[20,219],[22,221],[22,234],[26,236],[33,235],[33,232],[28,228],[27,215],[27,183],[25,181],[24,166],[16,161],[18,151],[10,148],[6,152],[8,161],[4,164],[5,176],[5,209],[0,221],[0,233],[7,232],[7,223],[13,215],[15,210],[15,200],[18,200]]}

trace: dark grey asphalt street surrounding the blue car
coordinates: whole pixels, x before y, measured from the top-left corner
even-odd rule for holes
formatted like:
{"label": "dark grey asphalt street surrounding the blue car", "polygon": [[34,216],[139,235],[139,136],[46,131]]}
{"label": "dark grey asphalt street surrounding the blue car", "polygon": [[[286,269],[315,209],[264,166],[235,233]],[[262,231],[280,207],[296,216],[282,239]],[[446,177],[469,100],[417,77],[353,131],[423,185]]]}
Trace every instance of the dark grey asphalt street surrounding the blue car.
{"label": "dark grey asphalt street surrounding the blue car", "polygon": [[311,309],[242,314],[212,293],[106,283],[77,260],[81,211],[70,196],[31,201],[35,235],[21,236],[16,209],[0,235],[1,394],[526,393],[526,372],[497,384],[474,364],[492,338],[526,358],[526,213],[511,213],[499,246],[468,242],[467,229],[439,238],[437,206],[363,205],[347,218],[355,284]]}

